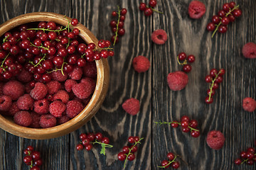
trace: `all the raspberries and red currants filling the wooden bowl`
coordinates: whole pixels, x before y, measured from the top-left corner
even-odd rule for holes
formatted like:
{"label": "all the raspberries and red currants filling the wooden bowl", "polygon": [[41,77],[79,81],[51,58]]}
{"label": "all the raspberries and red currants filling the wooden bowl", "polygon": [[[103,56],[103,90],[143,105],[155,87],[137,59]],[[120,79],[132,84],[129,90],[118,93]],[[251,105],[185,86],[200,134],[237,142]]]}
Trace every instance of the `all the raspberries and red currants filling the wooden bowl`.
{"label": "all the raspberries and red currants filling the wooden bowl", "polygon": [[77,19],[66,27],[35,24],[0,39],[0,113],[24,127],[50,128],[85,108],[96,86],[95,60],[114,52],[109,41],[100,40],[100,48],[85,44],[73,27]]}

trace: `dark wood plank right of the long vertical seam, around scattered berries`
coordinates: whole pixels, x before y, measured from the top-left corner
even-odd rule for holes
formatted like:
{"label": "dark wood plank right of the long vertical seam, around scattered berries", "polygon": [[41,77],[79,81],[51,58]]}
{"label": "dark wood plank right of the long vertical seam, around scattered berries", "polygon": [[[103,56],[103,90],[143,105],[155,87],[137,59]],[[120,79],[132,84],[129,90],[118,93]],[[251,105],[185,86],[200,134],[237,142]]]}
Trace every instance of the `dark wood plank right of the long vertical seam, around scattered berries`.
{"label": "dark wood plank right of the long vertical seam, around scattered berries", "polygon": [[[154,15],[154,30],[162,28],[169,35],[165,45],[153,45],[153,121],[179,120],[182,115],[199,122],[201,136],[191,137],[168,125],[153,125],[153,167],[167,159],[168,152],[175,152],[181,159],[181,169],[255,169],[255,166],[236,166],[233,160],[247,147],[253,147],[255,136],[254,113],[242,110],[242,98],[255,98],[255,60],[242,57],[242,46],[255,42],[255,1],[237,1],[242,16],[228,28],[228,33],[210,38],[205,29],[211,16],[222,8],[223,1],[203,1],[206,14],[199,20],[189,18],[190,1],[160,1],[159,10],[164,15]],[[196,56],[192,71],[188,73],[186,89],[171,91],[166,82],[170,72],[181,70],[176,61],[179,52]],[[204,103],[208,84],[204,77],[210,69],[224,68],[226,74],[214,102]],[[223,149],[214,151],[206,145],[210,130],[220,130],[225,135]]]}

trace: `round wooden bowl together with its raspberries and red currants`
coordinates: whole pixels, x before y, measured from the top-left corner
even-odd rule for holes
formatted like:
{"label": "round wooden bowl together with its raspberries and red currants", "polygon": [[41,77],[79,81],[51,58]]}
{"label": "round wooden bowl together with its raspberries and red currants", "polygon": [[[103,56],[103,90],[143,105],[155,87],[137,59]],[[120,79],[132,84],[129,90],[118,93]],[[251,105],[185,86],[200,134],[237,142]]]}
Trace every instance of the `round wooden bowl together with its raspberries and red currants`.
{"label": "round wooden bowl together with its raspberries and red currants", "polygon": [[110,41],[58,13],[27,13],[0,26],[0,128],[43,140],[66,135],[99,110]]}

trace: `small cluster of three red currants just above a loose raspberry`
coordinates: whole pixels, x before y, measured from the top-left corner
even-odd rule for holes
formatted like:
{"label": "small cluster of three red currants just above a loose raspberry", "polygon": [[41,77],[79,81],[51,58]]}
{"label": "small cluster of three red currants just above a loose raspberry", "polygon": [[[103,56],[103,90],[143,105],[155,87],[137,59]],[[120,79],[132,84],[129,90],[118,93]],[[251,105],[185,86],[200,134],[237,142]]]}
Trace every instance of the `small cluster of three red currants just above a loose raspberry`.
{"label": "small cluster of three red currants just above a loose raspberry", "polygon": [[183,72],[191,72],[192,67],[191,67],[191,64],[188,64],[188,62],[189,63],[195,62],[195,56],[188,55],[187,57],[185,52],[181,52],[178,54],[177,60],[178,60],[178,64],[183,65],[182,67]]}

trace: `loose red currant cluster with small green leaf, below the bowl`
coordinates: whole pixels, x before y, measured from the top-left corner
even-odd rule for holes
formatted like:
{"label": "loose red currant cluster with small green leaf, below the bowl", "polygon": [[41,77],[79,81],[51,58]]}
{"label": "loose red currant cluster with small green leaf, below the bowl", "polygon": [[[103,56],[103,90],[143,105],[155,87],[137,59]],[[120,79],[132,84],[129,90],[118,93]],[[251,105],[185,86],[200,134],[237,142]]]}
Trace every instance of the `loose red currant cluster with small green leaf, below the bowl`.
{"label": "loose red currant cluster with small green leaf, below the bowl", "polygon": [[102,146],[102,149],[100,151],[100,154],[105,155],[105,148],[106,147],[113,147],[113,145],[109,145],[110,139],[108,137],[103,137],[101,132],[97,132],[95,134],[93,133],[81,133],[79,135],[79,138],[81,140],[80,144],[76,146],[76,149],[82,150],[84,147],[87,151],[90,151],[92,149],[92,145],[100,144]]}

